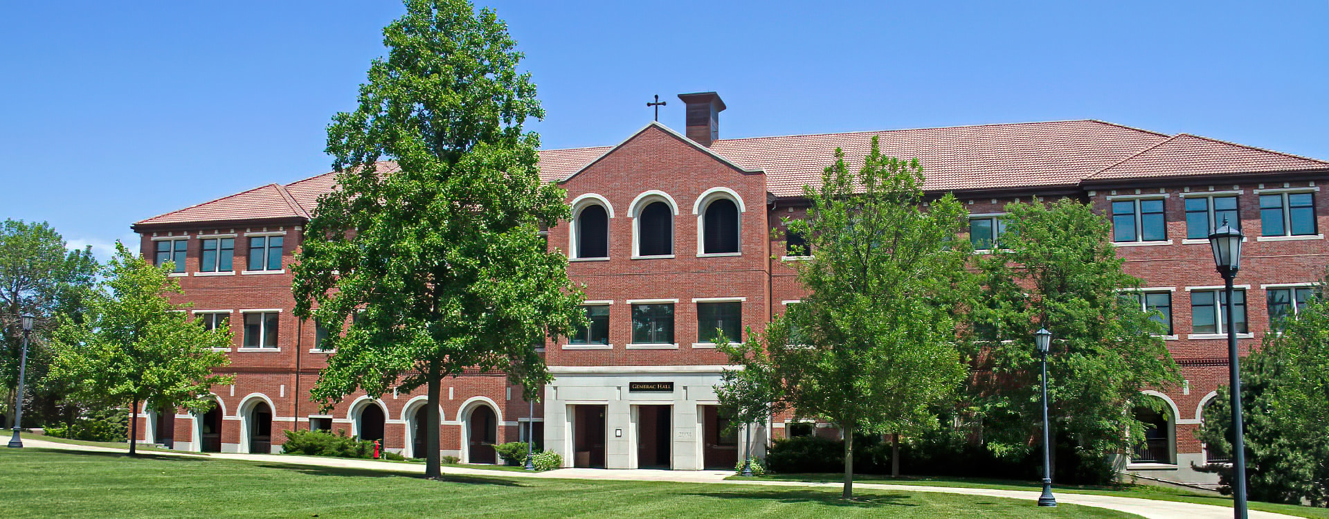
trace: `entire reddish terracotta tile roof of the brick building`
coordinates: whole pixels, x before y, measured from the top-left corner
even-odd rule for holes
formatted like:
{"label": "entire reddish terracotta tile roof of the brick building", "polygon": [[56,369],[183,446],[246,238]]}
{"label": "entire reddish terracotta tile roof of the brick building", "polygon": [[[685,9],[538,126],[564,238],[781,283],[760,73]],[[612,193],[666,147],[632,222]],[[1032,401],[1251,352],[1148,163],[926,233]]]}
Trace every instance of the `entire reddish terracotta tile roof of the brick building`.
{"label": "entire reddish terracotta tile roof of the brick building", "polygon": [[[836,147],[844,149],[851,167],[857,167],[873,135],[880,137],[884,154],[918,158],[926,177],[924,188],[929,191],[1067,188],[1087,182],[1160,177],[1329,171],[1329,162],[1324,161],[1102,121],[755,137],[715,141],[710,150],[740,167],[766,171],[771,194],[799,196],[804,185],[820,182]],[[611,149],[542,150],[540,177],[546,182],[561,181]],[[387,174],[397,167],[393,162],[380,162],[379,171]],[[335,177],[324,173],[286,186],[267,185],[136,226],[308,218],[319,195],[334,188]]]}

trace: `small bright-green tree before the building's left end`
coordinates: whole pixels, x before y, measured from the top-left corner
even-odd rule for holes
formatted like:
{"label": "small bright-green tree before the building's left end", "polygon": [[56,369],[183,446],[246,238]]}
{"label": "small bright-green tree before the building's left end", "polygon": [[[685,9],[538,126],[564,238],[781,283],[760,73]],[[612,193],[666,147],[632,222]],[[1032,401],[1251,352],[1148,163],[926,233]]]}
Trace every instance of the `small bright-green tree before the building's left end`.
{"label": "small bright-green tree before the building's left end", "polygon": [[52,374],[68,381],[88,402],[130,406],[129,454],[134,454],[140,404],[145,409],[203,413],[215,405],[209,390],[233,377],[214,374],[230,364],[214,348],[229,348],[229,329],[190,323],[183,293],[166,268],[136,258],[116,243],[104,291],[89,299],[88,319],[60,320],[53,333],[57,357]]}

